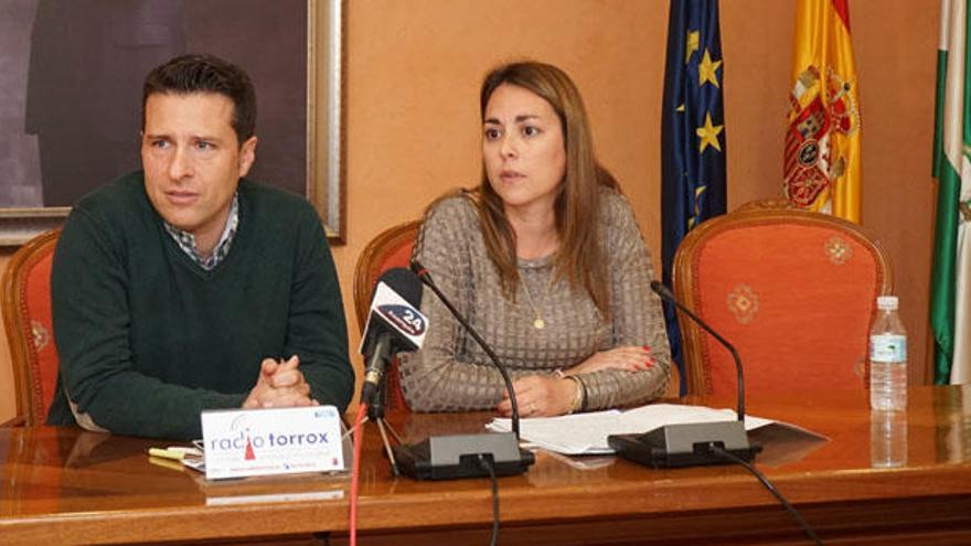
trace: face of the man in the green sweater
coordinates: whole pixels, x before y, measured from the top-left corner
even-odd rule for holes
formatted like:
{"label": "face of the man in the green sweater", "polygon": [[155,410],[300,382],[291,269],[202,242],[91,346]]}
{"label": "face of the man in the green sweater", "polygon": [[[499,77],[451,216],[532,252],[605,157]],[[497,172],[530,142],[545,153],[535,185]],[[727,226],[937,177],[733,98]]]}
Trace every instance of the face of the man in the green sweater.
{"label": "face of the man in the green sweater", "polygon": [[226,224],[239,178],[256,159],[256,137],[239,146],[232,99],[216,93],[153,94],[145,105],[145,189],[169,224],[212,251]]}

